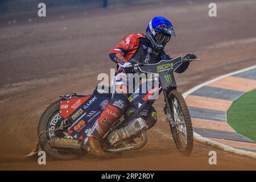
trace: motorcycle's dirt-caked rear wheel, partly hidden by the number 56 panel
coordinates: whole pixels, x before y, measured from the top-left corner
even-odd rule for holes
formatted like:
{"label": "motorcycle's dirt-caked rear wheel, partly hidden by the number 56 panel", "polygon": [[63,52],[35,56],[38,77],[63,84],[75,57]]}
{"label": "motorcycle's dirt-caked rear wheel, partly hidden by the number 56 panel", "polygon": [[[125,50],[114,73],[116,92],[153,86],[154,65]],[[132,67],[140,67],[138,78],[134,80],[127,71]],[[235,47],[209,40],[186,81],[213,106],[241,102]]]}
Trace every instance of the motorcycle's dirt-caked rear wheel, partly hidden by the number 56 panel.
{"label": "motorcycle's dirt-caked rear wheel, partly hidden by the number 56 panel", "polygon": [[[59,103],[61,100],[53,102],[51,105],[44,110],[39,124],[38,124],[38,135],[42,131],[49,131],[57,129],[63,118],[59,114]],[[43,151],[46,152],[47,156],[57,160],[74,160],[81,157],[81,152],[52,148],[49,146],[49,139],[53,137],[64,137],[63,131],[52,131],[51,133],[44,133],[40,137],[40,146]]]}

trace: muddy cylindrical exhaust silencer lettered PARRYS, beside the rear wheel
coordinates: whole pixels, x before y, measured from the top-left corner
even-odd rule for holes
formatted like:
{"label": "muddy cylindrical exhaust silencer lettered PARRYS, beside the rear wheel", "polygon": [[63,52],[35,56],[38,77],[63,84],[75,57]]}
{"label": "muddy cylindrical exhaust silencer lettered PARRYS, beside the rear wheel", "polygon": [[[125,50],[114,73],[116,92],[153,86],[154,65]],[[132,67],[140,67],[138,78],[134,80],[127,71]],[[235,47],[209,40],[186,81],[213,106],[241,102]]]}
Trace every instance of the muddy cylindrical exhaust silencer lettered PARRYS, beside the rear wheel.
{"label": "muddy cylindrical exhaust silencer lettered PARRYS, beside the rear wheel", "polygon": [[82,141],[71,138],[51,138],[49,140],[49,145],[53,148],[72,148],[76,150],[81,150]]}

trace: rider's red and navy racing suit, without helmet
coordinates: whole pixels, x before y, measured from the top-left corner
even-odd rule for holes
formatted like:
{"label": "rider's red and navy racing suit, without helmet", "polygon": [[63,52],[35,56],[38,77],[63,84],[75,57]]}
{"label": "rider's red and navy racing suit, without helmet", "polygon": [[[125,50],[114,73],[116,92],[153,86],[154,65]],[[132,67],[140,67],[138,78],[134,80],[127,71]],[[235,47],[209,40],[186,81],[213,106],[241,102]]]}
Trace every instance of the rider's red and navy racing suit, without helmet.
{"label": "rider's red and navy racing suit, without helmet", "polygon": [[[162,51],[155,53],[152,51],[150,43],[147,41],[143,34],[130,34],[127,35],[122,42],[109,52],[110,59],[117,64],[117,71],[113,80],[114,93],[112,100],[109,102],[108,107],[101,113],[98,118],[98,126],[100,126],[100,135],[104,135],[112,124],[120,117],[125,111],[128,98],[127,74],[123,72],[123,68],[130,63],[157,63],[160,60],[170,60],[171,57]],[[177,73],[182,73],[188,68],[189,63],[183,63],[178,69]],[[157,121],[157,114],[154,107],[144,115],[144,119],[151,128]]]}

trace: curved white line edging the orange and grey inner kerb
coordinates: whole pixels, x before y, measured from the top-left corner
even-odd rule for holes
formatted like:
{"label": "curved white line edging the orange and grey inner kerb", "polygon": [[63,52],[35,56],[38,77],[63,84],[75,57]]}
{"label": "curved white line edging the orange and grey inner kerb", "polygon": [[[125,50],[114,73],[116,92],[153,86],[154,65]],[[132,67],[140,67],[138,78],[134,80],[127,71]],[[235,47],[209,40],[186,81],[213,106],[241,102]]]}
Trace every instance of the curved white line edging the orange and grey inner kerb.
{"label": "curved white line edging the orange and grey inner kerb", "polygon": [[[209,80],[209,81],[204,82],[203,84],[197,85],[197,86],[193,87],[192,89],[188,90],[187,92],[183,93],[183,97],[184,98],[187,97],[189,94],[191,94],[192,92],[195,92],[196,90],[200,89],[204,85],[208,85],[208,84],[210,84],[214,81],[220,80],[222,78],[232,76],[232,75],[236,75],[237,73],[246,72],[246,71],[249,71],[249,70],[255,69],[255,68],[256,68],[256,65],[254,65],[252,67],[245,68],[245,69],[241,69],[241,70],[238,70],[238,71],[235,71],[235,72],[231,72],[231,73],[228,73],[226,75],[219,76],[217,78],[213,78],[212,80]],[[216,142],[216,141],[208,139],[208,138],[204,138],[204,137],[202,137],[201,135],[199,135],[195,132],[193,132],[193,134],[194,134],[194,139],[197,142],[204,143],[204,144],[209,144],[211,146],[221,148],[222,150],[231,152],[233,154],[248,156],[250,158],[256,159],[256,152],[250,152],[250,151],[245,151],[245,150],[241,150],[241,149],[238,149],[238,148],[230,147],[226,144]]]}

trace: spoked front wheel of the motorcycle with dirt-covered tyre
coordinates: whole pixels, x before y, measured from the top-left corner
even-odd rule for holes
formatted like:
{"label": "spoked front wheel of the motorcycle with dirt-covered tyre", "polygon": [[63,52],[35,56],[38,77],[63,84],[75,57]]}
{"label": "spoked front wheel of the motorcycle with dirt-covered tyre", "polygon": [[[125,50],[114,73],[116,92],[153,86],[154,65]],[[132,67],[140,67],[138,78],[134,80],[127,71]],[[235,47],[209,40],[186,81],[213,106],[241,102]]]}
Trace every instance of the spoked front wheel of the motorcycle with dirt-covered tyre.
{"label": "spoked front wheel of the motorcycle with dirt-covered tyre", "polygon": [[167,117],[172,137],[180,154],[188,156],[193,150],[193,128],[187,104],[176,89],[169,93],[168,101]]}

